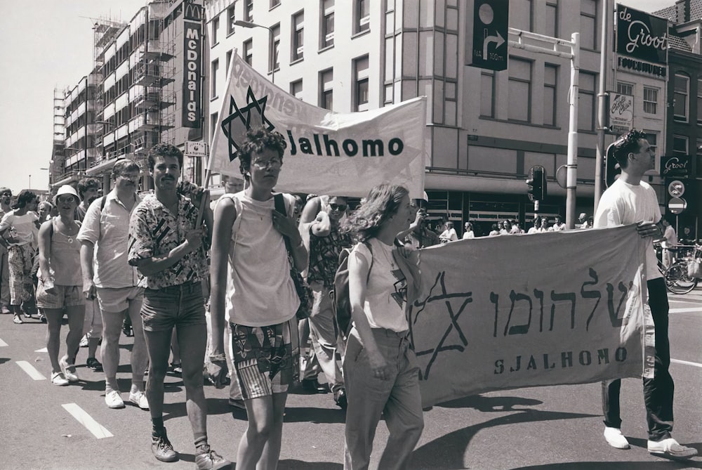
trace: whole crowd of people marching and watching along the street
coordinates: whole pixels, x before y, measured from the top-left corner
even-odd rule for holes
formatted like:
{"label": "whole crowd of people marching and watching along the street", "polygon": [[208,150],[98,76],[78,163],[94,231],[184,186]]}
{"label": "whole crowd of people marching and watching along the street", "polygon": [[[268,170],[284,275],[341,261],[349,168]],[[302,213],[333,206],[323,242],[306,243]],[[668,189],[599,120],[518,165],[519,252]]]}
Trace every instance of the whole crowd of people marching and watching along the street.
{"label": "whole crowd of people marching and watching along the street", "polygon": [[[418,266],[410,254],[458,235],[451,221],[440,235],[430,230],[422,200],[390,183],[373,188],[355,211],[340,195],[303,201],[275,193],[285,148],[277,132],[249,131],[237,152],[244,188],[225,178],[225,195],[213,204],[208,192],[179,182],[183,154],[170,144],[149,152],[154,193],[145,197],[137,194],[140,169],[128,159],[114,164],[112,190],[102,196],[93,178],[77,188],[60,187],[52,202],[20,192],[14,207],[11,191],[0,189],[0,249],[8,263],[2,273],[9,273],[0,289],[2,312],[18,324],[34,308],[46,318],[51,383],[57,386],[79,380],[76,361],[85,335],[86,365],[104,372],[110,408],[125,406],[116,375],[128,318],[134,337],[128,401],[149,410],[152,452],[161,462],[178,460],[163,419],[164,379],[173,357],[186,389],[198,469],[231,466],[208,445],[203,377],[218,388],[230,386],[230,404],[246,410],[237,469],[274,469],[287,393],[296,381],[309,391],[323,390],[317,381],[322,373],[333,400],[346,410],[344,468],[368,467],[382,415],[390,435],[379,468],[404,469],[424,426],[404,311],[418,292]],[[644,134],[633,131],[621,140],[616,158],[623,178],[604,193],[594,217],[581,214],[582,228],[639,223],[642,237],[660,237],[655,192],[640,179],[650,155]],[[564,224],[556,216],[548,227],[537,217],[529,233],[546,230],[564,230]],[[505,221],[490,235],[515,233],[524,230]],[[463,239],[475,236],[473,224],[465,223]],[[336,299],[329,295],[345,249],[348,328],[337,322]],[[648,450],[689,458],[696,450],[670,435],[665,285],[653,271],[647,279],[656,327],[655,377],[644,379]],[[60,355],[64,315],[69,331]],[[95,358],[100,341],[102,364]],[[308,343],[312,352],[306,354]],[[603,384],[602,393],[604,437],[615,448],[628,448],[618,381]]]}

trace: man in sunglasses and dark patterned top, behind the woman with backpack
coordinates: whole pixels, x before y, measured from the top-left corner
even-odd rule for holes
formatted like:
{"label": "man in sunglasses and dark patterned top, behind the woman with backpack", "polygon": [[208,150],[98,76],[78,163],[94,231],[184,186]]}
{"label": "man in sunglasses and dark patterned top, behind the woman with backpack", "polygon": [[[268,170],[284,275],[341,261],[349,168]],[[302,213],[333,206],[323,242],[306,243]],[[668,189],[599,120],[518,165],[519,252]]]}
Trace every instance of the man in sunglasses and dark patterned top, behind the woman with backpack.
{"label": "man in sunglasses and dark patterned top, behind the woman with backpack", "polygon": [[343,248],[351,246],[349,235],[339,233],[339,222],[345,216],[346,208],[345,197],[317,196],[307,201],[300,216],[300,233],[304,233],[303,240],[310,240],[307,282],[314,297],[309,318],[314,355],[305,367],[303,387],[312,392],[324,391],[317,382],[321,368],[334,401],[344,409],[346,390],[336,363],[338,329],[329,292],[333,289],[339,254]]}

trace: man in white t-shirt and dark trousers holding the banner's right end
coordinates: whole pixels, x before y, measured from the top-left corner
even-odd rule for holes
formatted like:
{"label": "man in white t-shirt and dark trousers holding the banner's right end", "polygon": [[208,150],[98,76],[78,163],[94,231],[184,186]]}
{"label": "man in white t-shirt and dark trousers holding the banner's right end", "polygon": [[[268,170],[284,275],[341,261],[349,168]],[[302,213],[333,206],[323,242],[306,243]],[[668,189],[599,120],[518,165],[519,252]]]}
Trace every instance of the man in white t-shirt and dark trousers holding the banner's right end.
{"label": "man in white t-shirt and dark trousers holding the banner's right end", "polygon": [[[656,331],[656,363],[654,378],[644,378],[644,403],[651,454],[677,459],[697,455],[694,448],[677,443],[670,436],[673,431],[673,377],[670,377],[670,342],[668,341],[668,294],[658,271],[653,240],[663,235],[661,209],[651,185],[641,181],[644,173],[655,166],[655,153],[646,140],[646,134],[635,129],[614,144],[614,157],[621,167],[621,177],[604,192],[595,214],[595,228],[637,223],[641,237],[648,238],[646,252],[646,279],[648,305]],[[609,153],[609,152],[608,152]],[[602,382],[604,438],[614,448],[628,449],[629,443],[621,433],[619,391],[621,381]]]}

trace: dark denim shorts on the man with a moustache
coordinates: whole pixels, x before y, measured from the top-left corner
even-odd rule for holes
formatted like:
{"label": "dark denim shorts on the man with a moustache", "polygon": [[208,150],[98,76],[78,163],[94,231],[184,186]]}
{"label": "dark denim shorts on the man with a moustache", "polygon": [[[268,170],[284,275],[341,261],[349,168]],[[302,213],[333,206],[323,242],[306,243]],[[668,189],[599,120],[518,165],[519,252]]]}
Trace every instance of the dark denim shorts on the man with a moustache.
{"label": "dark denim shorts on the man with a moustache", "polygon": [[145,289],[141,318],[147,332],[206,325],[201,283],[186,282],[161,289]]}

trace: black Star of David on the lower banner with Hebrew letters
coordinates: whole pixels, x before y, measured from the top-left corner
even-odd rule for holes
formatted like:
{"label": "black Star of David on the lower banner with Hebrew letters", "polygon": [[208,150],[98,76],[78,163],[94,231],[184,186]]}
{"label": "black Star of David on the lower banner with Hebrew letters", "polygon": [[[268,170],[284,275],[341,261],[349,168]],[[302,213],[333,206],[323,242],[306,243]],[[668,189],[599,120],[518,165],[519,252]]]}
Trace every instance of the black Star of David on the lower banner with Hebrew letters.
{"label": "black Star of David on the lower banner with Hebrew letters", "polygon": [[[446,271],[442,271],[441,273],[439,273],[434,282],[434,285],[431,289],[429,289],[429,295],[423,301],[416,301],[413,304],[413,306],[411,306],[409,311],[409,329],[410,334],[412,334],[412,336],[413,325],[416,324],[416,322],[419,320],[420,314],[430,303],[443,303],[444,307],[446,308],[446,313],[448,313],[449,315],[449,326],[446,327],[446,331],[442,335],[441,339],[439,339],[439,343],[437,344],[437,346],[435,346],[434,348],[429,348],[423,351],[415,352],[418,358],[423,355],[430,355],[425,369],[423,371],[420,371],[420,379],[423,380],[429,378],[429,372],[435,360],[437,360],[439,353],[444,353],[446,351],[459,351],[462,353],[463,351],[465,351],[465,346],[468,346],[468,339],[466,339],[465,334],[463,334],[461,325],[458,325],[458,318],[461,316],[468,303],[471,303],[473,301],[472,292],[452,292],[449,294],[448,292],[446,292],[446,283],[444,282],[445,276]],[[439,292],[435,292],[435,290],[438,290]],[[458,311],[456,311],[456,313],[454,313],[454,304],[452,303],[453,299],[459,299],[459,301],[461,301],[462,299],[461,306],[458,307]],[[414,308],[418,308],[416,313],[413,312]],[[456,341],[452,344],[448,344],[449,336],[451,336],[451,332],[454,329],[456,330],[456,334],[454,334],[453,337],[455,338],[456,335],[458,335],[458,338],[456,338]]]}

